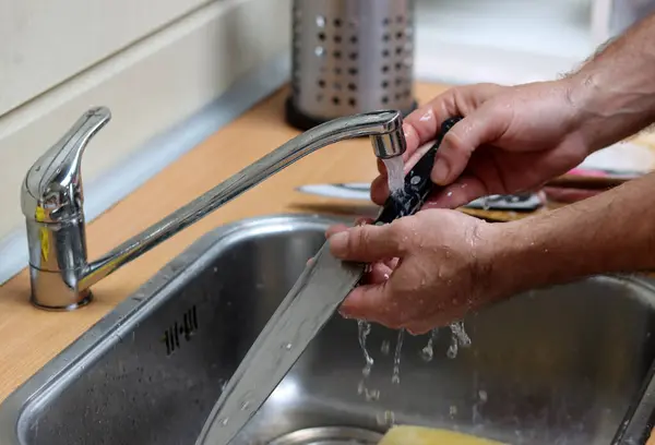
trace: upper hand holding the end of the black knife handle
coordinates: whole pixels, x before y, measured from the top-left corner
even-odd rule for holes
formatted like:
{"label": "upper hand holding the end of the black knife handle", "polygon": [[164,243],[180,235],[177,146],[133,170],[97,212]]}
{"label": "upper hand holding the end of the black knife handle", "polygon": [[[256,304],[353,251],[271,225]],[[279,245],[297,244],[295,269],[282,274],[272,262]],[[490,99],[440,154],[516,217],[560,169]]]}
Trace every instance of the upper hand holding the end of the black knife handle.
{"label": "upper hand holding the end of the black knife handle", "polygon": [[[488,194],[535,189],[577,166],[592,143],[574,99],[576,82],[454,87],[410,113],[404,123],[405,172],[445,119],[464,118],[443,139],[432,169],[432,181],[448,187],[426,205],[454,208]],[[378,168],[371,199],[381,205],[389,189],[384,165]]]}

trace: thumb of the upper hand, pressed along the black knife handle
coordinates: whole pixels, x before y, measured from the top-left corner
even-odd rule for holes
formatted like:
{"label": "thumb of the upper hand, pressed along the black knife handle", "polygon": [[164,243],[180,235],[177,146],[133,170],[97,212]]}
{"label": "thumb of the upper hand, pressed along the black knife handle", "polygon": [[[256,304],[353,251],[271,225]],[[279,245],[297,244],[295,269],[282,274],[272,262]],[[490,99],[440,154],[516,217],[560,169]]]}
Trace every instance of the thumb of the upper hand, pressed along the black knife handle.
{"label": "thumb of the upper hand, pressed along the black knife handle", "polygon": [[473,153],[498,140],[507,129],[502,113],[483,107],[455,123],[437,151],[431,179],[436,184],[452,183],[466,168]]}

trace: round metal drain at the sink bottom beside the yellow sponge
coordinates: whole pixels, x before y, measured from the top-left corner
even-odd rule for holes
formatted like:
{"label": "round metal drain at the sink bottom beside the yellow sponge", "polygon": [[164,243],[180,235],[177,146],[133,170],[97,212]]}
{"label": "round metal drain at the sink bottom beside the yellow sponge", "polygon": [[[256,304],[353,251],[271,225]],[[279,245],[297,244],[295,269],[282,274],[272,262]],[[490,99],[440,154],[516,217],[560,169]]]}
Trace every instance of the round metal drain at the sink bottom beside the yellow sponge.
{"label": "round metal drain at the sink bottom beside the yellow sponge", "polygon": [[269,445],[377,445],[382,434],[350,426],[319,426],[294,431]]}

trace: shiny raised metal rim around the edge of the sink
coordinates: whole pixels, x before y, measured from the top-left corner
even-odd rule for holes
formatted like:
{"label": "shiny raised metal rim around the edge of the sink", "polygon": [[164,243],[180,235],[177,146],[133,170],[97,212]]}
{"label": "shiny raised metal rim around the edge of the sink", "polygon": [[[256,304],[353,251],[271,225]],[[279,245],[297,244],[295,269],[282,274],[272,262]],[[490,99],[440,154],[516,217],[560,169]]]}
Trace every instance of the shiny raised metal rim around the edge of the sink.
{"label": "shiny raised metal rim around the edge of the sink", "polygon": [[[63,390],[71,380],[95,360],[100,359],[116,341],[120,340],[121,333],[129,332],[140,323],[142,316],[151,312],[153,306],[162,304],[168,293],[163,292],[165,288],[179,286],[187,281],[189,275],[200,272],[203,262],[199,260],[202,256],[217,255],[241,238],[267,232],[293,231],[299,228],[324,230],[329,225],[348,221],[349,218],[343,216],[281,213],[239,219],[207,231],[46,362],[0,404],[0,445],[24,443],[21,442],[20,432],[22,423],[26,421],[24,416],[29,409],[43,402],[46,395]],[[651,276],[603,274],[598,277],[628,281],[655,293],[655,278]],[[648,436],[654,420],[655,361],[651,364],[642,388],[627,410],[611,444],[644,443],[640,441]]]}

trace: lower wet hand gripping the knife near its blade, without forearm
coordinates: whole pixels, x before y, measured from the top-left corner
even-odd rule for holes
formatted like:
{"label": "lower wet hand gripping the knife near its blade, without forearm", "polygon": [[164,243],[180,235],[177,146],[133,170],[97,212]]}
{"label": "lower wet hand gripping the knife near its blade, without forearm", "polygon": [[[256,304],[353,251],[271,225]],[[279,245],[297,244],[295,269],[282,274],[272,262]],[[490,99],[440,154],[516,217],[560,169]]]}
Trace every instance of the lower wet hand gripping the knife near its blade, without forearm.
{"label": "lower wet hand gripping the knife near its blade, without forearm", "polygon": [[489,285],[492,225],[456,211],[429,209],[384,226],[334,226],[332,253],[371,263],[344,316],[422,334],[461,320],[497,297]]}

